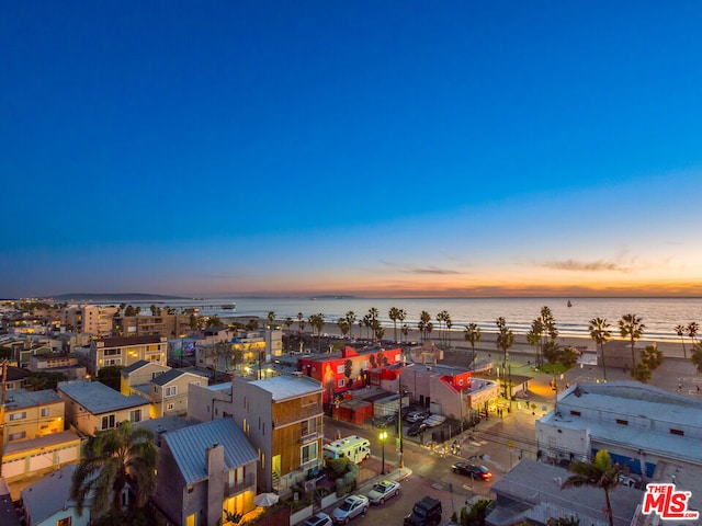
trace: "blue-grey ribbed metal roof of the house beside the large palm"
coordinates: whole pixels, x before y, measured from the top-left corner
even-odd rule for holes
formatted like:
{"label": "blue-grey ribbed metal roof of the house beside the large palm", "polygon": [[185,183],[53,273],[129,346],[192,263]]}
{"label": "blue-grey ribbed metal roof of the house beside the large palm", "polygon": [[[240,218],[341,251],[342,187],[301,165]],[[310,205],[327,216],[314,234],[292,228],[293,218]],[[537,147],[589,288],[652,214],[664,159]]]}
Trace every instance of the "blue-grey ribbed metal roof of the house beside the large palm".
{"label": "blue-grey ribbed metal roof of the house beside the large palm", "polygon": [[163,434],[186,484],[207,479],[207,449],[224,447],[224,469],[258,460],[253,446],[233,419],[219,419]]}

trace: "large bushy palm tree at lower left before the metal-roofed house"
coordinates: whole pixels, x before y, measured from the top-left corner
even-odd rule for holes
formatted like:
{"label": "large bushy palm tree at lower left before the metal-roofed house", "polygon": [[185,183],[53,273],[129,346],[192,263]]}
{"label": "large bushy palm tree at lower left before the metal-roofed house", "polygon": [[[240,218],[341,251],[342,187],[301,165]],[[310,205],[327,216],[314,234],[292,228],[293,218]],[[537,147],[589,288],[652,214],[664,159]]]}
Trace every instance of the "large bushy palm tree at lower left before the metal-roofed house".
{"label": "large bushy palm tree at lower left before the metal-roofed house", "polygon": [[123,516],[122,491],[127,484],[136,496],[136,506],[143,507],[156,491],[158,456],[154,434],[135,430],[129,422],[90,437],[71,480],[70,498],[78,514],[82,515],[86,500],[92,494],[94,514],[111,510],[116,517]]}

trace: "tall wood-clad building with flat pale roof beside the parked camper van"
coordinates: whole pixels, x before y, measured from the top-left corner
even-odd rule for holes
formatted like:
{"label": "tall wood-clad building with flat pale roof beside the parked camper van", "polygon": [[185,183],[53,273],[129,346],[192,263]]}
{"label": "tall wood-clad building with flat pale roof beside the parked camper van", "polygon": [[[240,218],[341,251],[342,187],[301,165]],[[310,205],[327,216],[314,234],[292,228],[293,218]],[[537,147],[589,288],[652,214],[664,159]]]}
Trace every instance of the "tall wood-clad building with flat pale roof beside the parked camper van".
{"label": "tall wood-clad building with flat pale roof beside the parked camper van", "polygon": [[193,387],[189,415],[201,422],[234,418],[259,453],[259,488],[287,492],[321,465],[322,392],[317,380],[304,376],[236,377]]}

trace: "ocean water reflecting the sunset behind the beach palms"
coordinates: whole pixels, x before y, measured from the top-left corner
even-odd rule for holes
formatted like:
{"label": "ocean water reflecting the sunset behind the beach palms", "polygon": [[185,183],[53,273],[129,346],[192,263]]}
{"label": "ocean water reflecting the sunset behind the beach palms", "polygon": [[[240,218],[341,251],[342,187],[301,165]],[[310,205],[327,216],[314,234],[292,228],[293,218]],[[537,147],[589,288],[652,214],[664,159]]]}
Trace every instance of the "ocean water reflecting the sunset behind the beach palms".
{"label": "ocean water reflecting the sunset behind the beach palms", "polygon": [[[422,299],[377,299],[377,298],[218,298],[203,300],[173,300],[157,305],[184,308],[200,307],[202,313],[217,315],[220,318],[231,316],[257,316],[265,318],[270,311],[279,320],[292,318],[293,328],[297,327],[297,313],[305,320],[312,315],[321,313],[327,322],[336,322],[346,313],[353,311],[358,319],[363,318],[371,308],[380,312],[381,322],[388,327],[385,334],[392,338],[393,322],[388,312],[392,307],[407,312],[405,323],[416,327],[423,310],[429,312],[437,331],[442,324],[437,322],[439,312],[445,310],[451,316],[453,330],[463,331],[468,323],[477,323],[484,332],[496,330],[495,321],[502,317],[516,334],[525,334],[532,321],[544,306],[551,308],[558,332],[563,336],[589,338],[588,324],[593,318],[604,318],[611,324],[613,336],[618,336],[618,321],[624,315],[635,313],[646,325],[642,340],[680,341],[675,328],[697,321],[702,325],[702,298],[422,298]],[[236,310],[222,309],[227,304],[236,304]],[[150,304],[140,305],[148,310]],[[309,327],[307,324],[307,327]],[[400,324],[398,323],[398,328]]]}

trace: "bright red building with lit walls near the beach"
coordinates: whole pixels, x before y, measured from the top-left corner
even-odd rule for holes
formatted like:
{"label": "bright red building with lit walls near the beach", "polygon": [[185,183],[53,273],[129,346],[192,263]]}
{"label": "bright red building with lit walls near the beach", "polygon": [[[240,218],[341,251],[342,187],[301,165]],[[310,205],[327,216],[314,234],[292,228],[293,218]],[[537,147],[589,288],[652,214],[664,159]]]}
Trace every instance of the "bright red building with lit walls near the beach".
{"label": "bright red building with lit walls near the beach", "polygon": [[318,354],[297,361],[299,370],[319,381],[325,388],[325,403],[333,400],[349,389],[370,384],[370,371],[383,369],[401,361],[403,351],[398,348],[375,348],[356,352],[344,347],[341,354]]}

